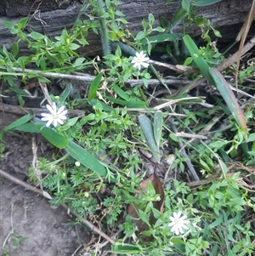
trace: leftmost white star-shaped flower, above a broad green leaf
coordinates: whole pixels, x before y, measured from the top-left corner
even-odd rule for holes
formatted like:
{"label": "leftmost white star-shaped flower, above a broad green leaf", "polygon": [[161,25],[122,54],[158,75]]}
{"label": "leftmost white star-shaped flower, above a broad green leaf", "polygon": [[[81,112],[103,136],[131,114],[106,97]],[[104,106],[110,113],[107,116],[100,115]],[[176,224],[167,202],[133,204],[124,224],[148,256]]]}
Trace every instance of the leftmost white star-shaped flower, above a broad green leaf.
{"label": "leftmost white star-shaped flower, above a broad green leaf", "polygon": [[50,114],[48,113],[42,113],[42,121],[48,121],[46,123],[46,126],[50,126],[53,122],[54,127],[57,127],[58,122],[59,124],[63,124],[63,120],[65,120],[67,117],[65,117],[65,115],[67,114],[67,110],[65,110],[65,106],[61,106],[59,108],[59,110],[57,111],[57,106],[55,103],[53,103],[53,106],[50,105],[46,105],[48,111],[50,112]]}

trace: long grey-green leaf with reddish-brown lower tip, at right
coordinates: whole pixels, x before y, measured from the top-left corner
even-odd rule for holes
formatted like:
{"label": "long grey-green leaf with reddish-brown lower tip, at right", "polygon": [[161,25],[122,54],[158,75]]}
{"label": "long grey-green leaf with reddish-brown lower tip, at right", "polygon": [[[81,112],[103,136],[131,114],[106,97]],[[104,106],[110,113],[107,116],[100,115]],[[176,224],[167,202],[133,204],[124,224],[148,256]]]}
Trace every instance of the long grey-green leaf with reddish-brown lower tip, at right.
{"label": "long grey-green leaf with reddish-brown lower tip, at right", "polygon": [[210,68],[209,73],[212,76],[213,83],[215,83],[219,93],[221,94],[221,96],[224,98],[224,101],[228,105],[229,111],[235,118],[235,121],[241,128],[244,129],[245,134],[247,134],[246,120],[243,111],[241,110],[240,105],[235,99],[235,94],[233,94],[233,91],[229,87],[229,83],[226,82],[222,74],[216,68]]}

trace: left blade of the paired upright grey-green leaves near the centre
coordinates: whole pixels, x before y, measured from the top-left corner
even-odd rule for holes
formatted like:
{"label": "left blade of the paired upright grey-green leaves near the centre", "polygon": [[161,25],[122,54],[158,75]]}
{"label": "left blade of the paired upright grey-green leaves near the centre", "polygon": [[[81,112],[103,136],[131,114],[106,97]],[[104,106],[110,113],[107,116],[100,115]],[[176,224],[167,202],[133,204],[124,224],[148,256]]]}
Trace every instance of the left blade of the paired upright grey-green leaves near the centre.
{"label": "left blade of the paired upright grey-green leaves near the centre", "polygon": [[139,116],[139,124],[143,131],[144,137],[145,137],[146,141],[148,142],[150,150],[152,151],[153,156],[155,156],[157,162],[160,162],[161,155],[160,155],[160,151],[159,151],[159,146],[156,145],[150,118],[146,117],[145,115],[140,115]]}

